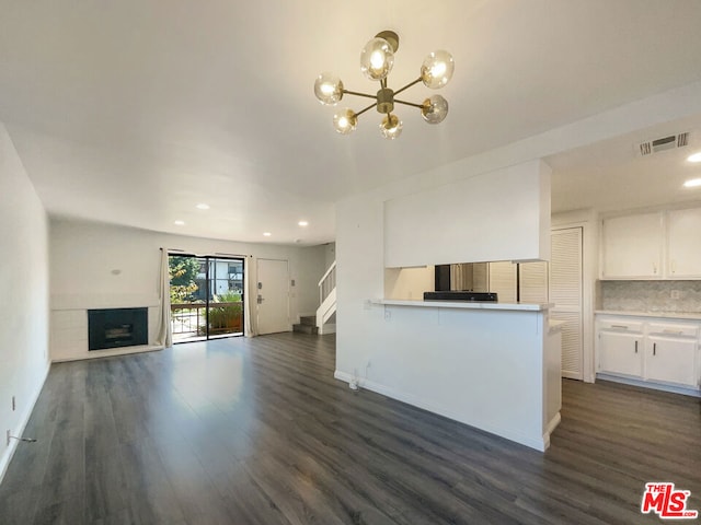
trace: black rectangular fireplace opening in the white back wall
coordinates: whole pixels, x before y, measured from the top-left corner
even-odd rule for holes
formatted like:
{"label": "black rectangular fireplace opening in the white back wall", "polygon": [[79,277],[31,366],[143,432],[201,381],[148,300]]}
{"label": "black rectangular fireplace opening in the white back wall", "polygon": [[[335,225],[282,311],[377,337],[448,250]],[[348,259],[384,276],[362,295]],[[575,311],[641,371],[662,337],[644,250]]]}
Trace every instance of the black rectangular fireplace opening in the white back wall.
{"label": "black rectangular fireplace opening in the white back wall", "polygon": [[88,311],[88,349],[148,345],[148,308]]}

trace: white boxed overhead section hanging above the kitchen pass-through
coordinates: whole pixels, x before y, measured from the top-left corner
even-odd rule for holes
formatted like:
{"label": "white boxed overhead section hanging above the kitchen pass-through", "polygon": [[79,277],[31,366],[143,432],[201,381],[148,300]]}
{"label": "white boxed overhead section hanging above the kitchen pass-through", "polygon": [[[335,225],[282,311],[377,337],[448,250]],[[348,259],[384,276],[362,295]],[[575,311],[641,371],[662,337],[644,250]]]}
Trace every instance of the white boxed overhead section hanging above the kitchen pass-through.
{"label": "white boxed overhead section hanging above the kitchen pass-through", "polygon": [[550,167],[530,161],[384,202],[384,266],[550,258]]}

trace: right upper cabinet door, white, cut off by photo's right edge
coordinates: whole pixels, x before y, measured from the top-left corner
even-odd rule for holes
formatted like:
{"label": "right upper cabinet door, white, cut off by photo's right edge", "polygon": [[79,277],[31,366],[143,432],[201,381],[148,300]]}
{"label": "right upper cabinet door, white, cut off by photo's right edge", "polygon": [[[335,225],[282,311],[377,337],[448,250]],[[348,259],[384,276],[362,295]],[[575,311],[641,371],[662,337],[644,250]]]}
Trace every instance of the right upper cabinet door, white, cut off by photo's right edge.
{"label": "right upper cabinet door, white, cut off by photo's right edge", "polygon": [[667,215],[667,277],[701,279],[701,208]]}

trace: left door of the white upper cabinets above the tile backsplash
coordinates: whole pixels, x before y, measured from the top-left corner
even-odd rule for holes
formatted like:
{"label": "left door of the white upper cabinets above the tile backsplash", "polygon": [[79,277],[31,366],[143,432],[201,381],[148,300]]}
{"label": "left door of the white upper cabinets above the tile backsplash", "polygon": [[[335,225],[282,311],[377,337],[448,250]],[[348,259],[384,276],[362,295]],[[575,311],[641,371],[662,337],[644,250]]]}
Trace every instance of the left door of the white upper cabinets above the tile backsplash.
{"label": "left door of the white upper cabinets above the tile backsplash", "polygon": [[663,212],[612,217],[602,224],[602,279],[660,279]]}

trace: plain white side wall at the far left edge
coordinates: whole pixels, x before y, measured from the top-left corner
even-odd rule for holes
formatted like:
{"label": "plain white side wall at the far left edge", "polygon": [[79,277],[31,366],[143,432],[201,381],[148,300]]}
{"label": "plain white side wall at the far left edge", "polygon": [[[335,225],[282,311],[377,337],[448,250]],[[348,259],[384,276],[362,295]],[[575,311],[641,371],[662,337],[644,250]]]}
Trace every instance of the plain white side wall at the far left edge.
{"label": "plain white side wall at the far left edge", "polygon": [[[0,480],[48,372],[48,240],[44,207],[0,124]],[[11,399],[15,396],[16,410]]]}

